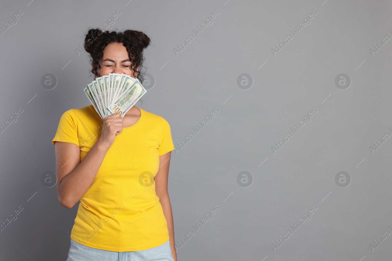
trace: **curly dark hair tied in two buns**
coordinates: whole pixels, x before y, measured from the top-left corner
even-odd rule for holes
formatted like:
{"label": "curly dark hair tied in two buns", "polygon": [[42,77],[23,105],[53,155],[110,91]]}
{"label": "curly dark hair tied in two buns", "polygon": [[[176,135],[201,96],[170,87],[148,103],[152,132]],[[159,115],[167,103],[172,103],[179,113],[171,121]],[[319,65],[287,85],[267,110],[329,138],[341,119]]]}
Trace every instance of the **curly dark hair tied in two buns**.
{"label": "curly dark hair tied in two buns", "polygon": [[[124,32],[105,31],[100,29],[89,29],[84,40],[84,49],[90,54],[90,61],[93,65],[91,72],[94,76],[99,75],[101,68],[100,61],[103,57],[103,50],[109,43],[122,43],[127,49],[131,68],[134,70],[133,76],[142,83],[143,72],[143,49],[150,45],[150,38],[140,31],[125,30]],[[136,71],[136,68],[138,70]],[[136,74],[136,75],[135,75]]]}

